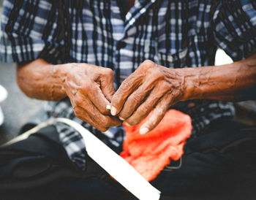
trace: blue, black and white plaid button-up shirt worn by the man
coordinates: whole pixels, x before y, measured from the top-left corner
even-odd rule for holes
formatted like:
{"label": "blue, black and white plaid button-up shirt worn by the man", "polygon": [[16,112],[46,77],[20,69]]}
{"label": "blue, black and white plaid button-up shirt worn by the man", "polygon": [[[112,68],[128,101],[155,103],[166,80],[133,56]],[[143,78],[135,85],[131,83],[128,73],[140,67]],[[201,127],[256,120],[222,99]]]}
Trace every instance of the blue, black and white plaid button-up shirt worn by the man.
{"label": "blue, black and white plaid button-up shirt worn by the man", "polygon": [[[5,0],[1,61],[43,58],[77,62],[115,72],[116,88],[146,59],[170,68],[214,65],[217,47],[238,61],[256,50],[256,2],[250,0],[136,0],[125,15],[118,0]],[[208,123],[234,115],[233,104],[195,100],[174,106],[192,117],[192,136]],[[50,102],[49,118],[78,121],[112,147],[121,147],[122,127],[99,132],[75,118],[69,99]],[[56,124],[69,157],[82,168],[85,146],[72,128]]]}

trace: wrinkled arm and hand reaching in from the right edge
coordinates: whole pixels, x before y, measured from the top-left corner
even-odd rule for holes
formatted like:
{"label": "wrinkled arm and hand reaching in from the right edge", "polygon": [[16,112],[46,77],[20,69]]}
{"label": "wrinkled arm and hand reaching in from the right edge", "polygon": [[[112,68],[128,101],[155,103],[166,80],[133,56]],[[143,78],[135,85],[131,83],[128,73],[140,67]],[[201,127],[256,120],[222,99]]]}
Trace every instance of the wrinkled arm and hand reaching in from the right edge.
{"label": "wrinkled arm and hand reaching in from the right edge", "polygon": [[146,134],[178,101],[241,101],[255,99],[255,91],[256,54],[233,64],[184,69],[168,69],[152,61],[144,61],[114,94],[111,114],[134,126],[154,110],[151,118],[140,128],[140,134]]}

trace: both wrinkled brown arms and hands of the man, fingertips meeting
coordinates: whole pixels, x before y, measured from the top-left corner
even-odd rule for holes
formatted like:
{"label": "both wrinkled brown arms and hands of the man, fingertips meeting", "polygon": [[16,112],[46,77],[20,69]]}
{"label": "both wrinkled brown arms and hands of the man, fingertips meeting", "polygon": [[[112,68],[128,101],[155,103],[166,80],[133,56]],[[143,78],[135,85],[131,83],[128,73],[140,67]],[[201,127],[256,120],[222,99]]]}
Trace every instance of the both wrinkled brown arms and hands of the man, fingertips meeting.
{"label": "both wrinkled brown arms and hands of the man, fingertips meeting", "polygon": [[18,65],[17,82],[31,98],[59,101],[68,96],[76,117],[100,131],[121,125],[123,120],[137,125],[154,110],[140,129],[146,134],[178,101],[256,99],[256,54],[233,64],[183,69],[144,61],[116,92],[111,69],[91,64],[51,65],[42,59]]}

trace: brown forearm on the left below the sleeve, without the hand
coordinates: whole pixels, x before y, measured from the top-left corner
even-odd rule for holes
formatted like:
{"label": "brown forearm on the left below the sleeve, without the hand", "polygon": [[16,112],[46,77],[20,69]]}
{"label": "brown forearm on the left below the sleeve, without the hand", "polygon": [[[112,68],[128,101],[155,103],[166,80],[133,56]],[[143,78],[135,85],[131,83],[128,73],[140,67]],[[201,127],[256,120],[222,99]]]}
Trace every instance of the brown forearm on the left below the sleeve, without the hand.
{"label": "brown forearm on the left below the sleeve, without the hand", "polygon": [[59,101],[66,95],[63,65],[51,65],[42,59],[17,66],[17,83],[21,91],[33,99]]}

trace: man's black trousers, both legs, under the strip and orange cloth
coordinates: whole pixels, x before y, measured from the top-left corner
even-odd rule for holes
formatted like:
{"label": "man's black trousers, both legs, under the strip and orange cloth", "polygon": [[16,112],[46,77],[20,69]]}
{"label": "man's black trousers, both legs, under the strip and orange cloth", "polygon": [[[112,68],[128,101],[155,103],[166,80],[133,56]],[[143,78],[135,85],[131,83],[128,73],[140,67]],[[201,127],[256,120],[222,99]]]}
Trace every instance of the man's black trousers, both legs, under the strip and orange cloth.
{"label": "man's black trousers, both legs, under the strip and orange cloth", "polygon": [[[255,199],[256,127],[217,120],[151,182],[162,199]],[[0,148],[0,199],[135,199],[87,156],[72,164],[53,126]],[[171,166],[178,165],[171,162]]]}

